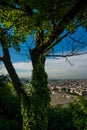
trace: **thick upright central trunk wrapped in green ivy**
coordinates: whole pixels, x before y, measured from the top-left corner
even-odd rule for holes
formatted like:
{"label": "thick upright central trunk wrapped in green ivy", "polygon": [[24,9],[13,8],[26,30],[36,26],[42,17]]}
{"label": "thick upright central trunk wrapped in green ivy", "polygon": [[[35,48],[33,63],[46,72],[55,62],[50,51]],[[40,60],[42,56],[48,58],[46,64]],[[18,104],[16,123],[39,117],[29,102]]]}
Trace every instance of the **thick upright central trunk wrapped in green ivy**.
{"label": "thick upright central trunk wrapped in green ivy", "polygon": [[48,76],[45,72],[45,58],[35,50],[31,50],[33,65],[32,81],[30,89],[29,120],[24,130],[47,130],[47,109],[50,104],[50,91],[48,88]]}

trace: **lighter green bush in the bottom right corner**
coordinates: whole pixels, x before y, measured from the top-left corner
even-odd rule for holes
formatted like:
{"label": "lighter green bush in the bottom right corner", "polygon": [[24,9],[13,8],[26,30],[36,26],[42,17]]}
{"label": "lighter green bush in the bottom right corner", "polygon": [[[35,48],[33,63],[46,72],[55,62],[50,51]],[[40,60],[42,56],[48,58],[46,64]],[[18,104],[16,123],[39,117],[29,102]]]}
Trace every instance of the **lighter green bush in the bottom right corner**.
{"label": "lighter green bush in the bottom right corner", "polygon": [[87,100],[80,96],[79,101],[69,105],[69,110],[77,130],[87,130]]}

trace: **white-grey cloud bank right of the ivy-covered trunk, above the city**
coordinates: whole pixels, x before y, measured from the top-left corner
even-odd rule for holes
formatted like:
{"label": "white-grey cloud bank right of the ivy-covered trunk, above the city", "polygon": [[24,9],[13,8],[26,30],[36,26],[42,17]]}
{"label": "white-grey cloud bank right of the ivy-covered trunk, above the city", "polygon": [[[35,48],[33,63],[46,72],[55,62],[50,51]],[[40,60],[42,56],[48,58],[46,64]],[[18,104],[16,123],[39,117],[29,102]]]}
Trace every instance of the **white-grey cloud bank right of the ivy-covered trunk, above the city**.
{"label": "white-grey cloud bank right of the ivy-covered trunk, above the city", "polygon": [[73,56],[68,58],[71,66],[65,58],[60,60],[49,59],[46,62],[46,71],[49,78],[78,79],[87,78],[87,55]]}

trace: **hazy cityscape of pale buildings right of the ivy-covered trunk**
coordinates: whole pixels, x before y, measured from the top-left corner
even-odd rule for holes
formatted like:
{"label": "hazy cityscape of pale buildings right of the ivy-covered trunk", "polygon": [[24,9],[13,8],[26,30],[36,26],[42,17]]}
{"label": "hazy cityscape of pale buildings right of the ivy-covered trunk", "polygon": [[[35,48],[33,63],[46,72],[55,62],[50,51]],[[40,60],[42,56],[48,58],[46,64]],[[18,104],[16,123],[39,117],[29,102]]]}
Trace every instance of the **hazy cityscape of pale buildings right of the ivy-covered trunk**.
{"label": "hazy cityscape of pale buildings right of the ivy-covered trunk", "polygon": [[87,80],[50,80],[51,105],[66,106],[75,100],[78,95],[87,97]]}

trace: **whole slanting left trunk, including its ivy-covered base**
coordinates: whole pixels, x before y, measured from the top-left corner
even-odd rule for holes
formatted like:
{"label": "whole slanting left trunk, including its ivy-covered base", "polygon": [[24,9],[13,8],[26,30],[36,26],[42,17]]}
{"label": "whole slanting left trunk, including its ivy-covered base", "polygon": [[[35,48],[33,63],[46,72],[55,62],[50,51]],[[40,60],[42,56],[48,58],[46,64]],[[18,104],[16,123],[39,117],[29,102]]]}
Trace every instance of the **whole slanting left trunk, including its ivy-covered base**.
{"label": "whole slanting left trunk, including its ivy-covered base", "polygon": [[[25,126],[25,120],[26,120],[26,113],[29,112],[30,109],[30,97],[27,95],[27,93],[23,89],[23,85],[12,65],[9,51],[6,48],[3,48],[3,63],[8,71],[8,74],[12,80],[13,86],[19,96],[20,104],[21,104],[21,116],[22,116],[22,128],[24,130]],[[28,117],[29,119],[29,117]],[[27,122],[26,122],[27,124]]]}

